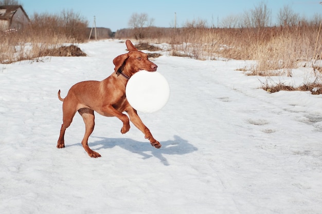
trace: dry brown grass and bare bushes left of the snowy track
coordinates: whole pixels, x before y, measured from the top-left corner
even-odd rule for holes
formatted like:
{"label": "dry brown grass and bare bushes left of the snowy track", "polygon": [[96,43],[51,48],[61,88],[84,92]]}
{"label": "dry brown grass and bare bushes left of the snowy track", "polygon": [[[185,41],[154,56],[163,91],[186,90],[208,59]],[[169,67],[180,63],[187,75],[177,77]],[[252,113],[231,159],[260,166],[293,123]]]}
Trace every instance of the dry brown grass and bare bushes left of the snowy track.
{"label": "dry brown grass and bare bushes left of the snowy track", "polygon": [[73,55],[75,47],[64,50],[63,44],[87,40],[87,21],[73,11],[60,15],[37,14],[23,30],[0,32],[0,63],[22,60],[39,61],[46,55]]}

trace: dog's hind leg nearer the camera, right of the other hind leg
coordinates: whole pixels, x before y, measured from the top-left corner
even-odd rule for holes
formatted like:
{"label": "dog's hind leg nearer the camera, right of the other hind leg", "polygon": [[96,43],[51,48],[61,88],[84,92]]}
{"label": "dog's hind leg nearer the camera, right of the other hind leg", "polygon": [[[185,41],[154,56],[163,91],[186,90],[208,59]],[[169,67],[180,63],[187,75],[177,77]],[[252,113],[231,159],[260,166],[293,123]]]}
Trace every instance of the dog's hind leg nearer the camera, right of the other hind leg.
{"label": "dog's hind leg nearer the camera, right of the other hind leg", "polygon": [[92,134],[95,126],[95,116],[94,111],[89,108],[82,108],[78,110],[78,113],[82,116],[84,123],[85,123],[85,134],[82,140],[82,145],[88,155],[92,158],[99,158],[101,155],[98,152],[93,151],[88,146],[88,138]]}

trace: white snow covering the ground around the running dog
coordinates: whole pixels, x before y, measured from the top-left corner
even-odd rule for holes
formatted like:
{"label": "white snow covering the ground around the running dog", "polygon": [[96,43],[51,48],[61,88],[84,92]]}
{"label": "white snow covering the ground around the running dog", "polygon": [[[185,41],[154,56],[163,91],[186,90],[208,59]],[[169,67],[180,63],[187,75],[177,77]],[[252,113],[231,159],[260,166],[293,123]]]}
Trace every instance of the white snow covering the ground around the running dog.
{"label": "white snow covering the ground around the running dog", "polygon": [[[322,96],[267,93],[265,77],[237,70],[252,61],[163,52],[153,62],[169,101],[140,113],[160,149],[99,114],[89,145],[101,158],[82,148],[78,114],[57,149],[58,90],[105,79],[126,52],[116,40],[79,46],[87,57],[0,64],[0,213],[321,213]],[[308,72],[276,78],[300,83]]]}

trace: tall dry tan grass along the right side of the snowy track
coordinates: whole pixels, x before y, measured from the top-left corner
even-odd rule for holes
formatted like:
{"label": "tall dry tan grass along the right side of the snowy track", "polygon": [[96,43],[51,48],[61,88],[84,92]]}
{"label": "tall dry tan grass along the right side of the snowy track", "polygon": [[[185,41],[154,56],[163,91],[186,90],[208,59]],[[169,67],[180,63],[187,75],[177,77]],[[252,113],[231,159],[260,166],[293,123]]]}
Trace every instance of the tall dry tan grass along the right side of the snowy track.
{"label": "tall dry tan grass along the right side of the snowy track", "polygon": [[[318,22],[317,22],[318,23]],[[322,32],[321,23],[302,22],[294,26],[265,28],[207,28],[187,26],[184,28],[146,28],[145,41],[168,43],[170,54],[191,57],[197,60],[254,60],[256,65],[245,69],[246,75],[291,76],[292,68],[299,62],[307,62],[316,77],[322,71]],[[126,35],[125,30],[122,35]],[[118,34],[116,33],[116,36]],[[120,35],[120,34],[119,34]],[[127,34],[131,37],[130,31]],[[313,94],[321,92],[322,81],[306,83],[293,88],[282,83],[263,86],[275,92],[279,90],[309,90]]]}

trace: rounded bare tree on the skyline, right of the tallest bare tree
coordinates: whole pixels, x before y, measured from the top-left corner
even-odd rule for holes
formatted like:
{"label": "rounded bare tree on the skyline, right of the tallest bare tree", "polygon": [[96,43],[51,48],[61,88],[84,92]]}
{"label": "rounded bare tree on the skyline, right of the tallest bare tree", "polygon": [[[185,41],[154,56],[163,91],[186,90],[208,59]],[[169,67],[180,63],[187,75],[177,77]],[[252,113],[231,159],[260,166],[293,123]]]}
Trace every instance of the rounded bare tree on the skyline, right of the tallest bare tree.
{"label": "rounded bare tree on the skyline, right of the tallest bare tree", "polygon": [[277,19],[280,26],[294,26],[299,22],[299,15],[294,13],[289,5],[285,5],[279,10]]}

